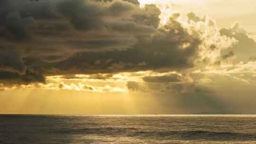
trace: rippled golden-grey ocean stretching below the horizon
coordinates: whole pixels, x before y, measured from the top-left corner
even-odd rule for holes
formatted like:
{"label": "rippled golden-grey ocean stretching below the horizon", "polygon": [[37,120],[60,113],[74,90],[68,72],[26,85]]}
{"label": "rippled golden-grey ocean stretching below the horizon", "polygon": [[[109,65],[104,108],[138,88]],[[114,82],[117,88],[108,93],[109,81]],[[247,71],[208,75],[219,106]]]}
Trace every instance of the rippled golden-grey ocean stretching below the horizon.
{"label": "rippled golden-grey ocean stretching below the horizon", "polygon": [[0,115],[0,144],[256,144],[256,116]]}

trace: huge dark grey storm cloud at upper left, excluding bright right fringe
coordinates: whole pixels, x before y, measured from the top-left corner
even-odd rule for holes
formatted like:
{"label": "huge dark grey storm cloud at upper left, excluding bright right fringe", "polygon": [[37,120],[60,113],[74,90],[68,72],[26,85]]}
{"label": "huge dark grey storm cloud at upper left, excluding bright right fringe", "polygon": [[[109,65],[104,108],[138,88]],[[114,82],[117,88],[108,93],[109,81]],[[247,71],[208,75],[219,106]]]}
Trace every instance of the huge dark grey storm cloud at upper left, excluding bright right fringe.
{"label": "huge dark grey storm cloud at upper left, excluding bright right fringe", "polygon": [[[44,76],[54,74],[192,68],[201,44],[198,36],[183,28],[178,14],[158,28],[160,10],[155,5],[141,9],[138,4],[137,0],[1,1],[1,79],[15,84],[43,82]],[[12,72],[8,74],[13,78],[5,72]]]}

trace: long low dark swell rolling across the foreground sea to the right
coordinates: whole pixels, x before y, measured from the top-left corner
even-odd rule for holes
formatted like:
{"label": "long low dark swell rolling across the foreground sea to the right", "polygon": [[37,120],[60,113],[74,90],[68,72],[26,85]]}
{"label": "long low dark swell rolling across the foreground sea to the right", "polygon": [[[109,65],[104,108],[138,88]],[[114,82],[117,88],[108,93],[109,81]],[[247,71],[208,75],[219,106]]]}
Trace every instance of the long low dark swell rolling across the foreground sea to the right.
{"label": "long low dark swell rolling across the foreground sea to the right", "polygon": [[176,140],[218,140],[218,141],[256,141],[256,134],[244,134],[233,132],[212,132],[212,131],[147,131],[133,127],[98,127],[66,129],[55,131],[62,134],[83,134],[83,135],[110,135],[110,136],[128,136],[139,138],[155,139],[176,139]]}

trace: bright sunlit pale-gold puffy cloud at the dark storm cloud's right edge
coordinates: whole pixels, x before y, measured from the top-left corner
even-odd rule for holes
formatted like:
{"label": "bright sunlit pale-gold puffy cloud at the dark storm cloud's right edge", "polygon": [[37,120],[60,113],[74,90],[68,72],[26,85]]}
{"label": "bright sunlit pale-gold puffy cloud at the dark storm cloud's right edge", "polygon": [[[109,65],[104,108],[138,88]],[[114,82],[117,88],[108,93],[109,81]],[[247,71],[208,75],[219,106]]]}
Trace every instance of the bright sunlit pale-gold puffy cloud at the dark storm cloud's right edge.
{"label": "bright sunlit pale-gold puffy cloud at the dark storm cloud's right edge", "polygon": [[[191,15],[197,17],[191,13],[188,15],[189,20],[192,17]],[[208,16],[196,21],[189,21],[189,26],[198,32],[202,41],[199,46],[199,61],[206,62],[209,65],[221,61],[223,51],[230,51],[238,40],[234,37],[222,35],[216,22]]]}

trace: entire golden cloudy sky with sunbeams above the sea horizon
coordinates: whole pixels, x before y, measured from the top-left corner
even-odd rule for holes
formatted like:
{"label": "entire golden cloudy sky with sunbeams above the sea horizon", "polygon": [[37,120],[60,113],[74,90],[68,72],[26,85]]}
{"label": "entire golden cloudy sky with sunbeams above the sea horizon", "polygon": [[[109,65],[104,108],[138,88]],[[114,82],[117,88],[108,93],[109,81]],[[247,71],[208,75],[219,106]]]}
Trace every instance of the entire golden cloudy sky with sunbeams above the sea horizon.
{"label": "entire golden cloudy sky with sunbeams above the sea horizon", "polygon": [[0,114],[256,114],[255,0],[1,0]]}

